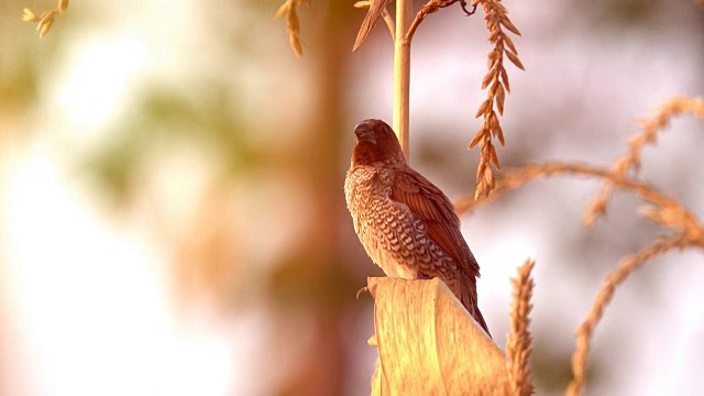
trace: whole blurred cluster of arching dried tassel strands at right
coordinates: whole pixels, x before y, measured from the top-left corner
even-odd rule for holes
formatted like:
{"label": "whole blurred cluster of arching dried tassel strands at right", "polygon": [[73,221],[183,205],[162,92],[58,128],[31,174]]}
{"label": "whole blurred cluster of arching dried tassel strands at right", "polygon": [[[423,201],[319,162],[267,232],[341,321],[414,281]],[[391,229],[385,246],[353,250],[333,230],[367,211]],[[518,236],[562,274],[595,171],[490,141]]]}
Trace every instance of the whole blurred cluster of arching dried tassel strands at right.
{"label": "whole blurred cluster of arching dried tassel strands at right", "polygon": [[[644,182],[628,177],[629,168],[638,168],[640,165],[641,148],[646,143],[653,143],[657,133],[668,125],[669,120],[676,114],[691,113],[704,119],[704,100],[701,98],[673,98],[667,101],[649,121],[639,122],[642,132],[635,135],[629,143],[629,150],[618,157],[610,168],[602,168],[588,164],[547,163],[542,165],[529,165],[507,172],[497,183],[491,197],[474,199],[466,196],[455,202],[459,212],[472,210],[502,196],[504,193],[518,188],[530,180],[541,179],[548,176],[595,176],[605,180],[596,202],[587,209],[587,219],[593,219],[604,213],[603,208],[615,188],[635,193],[649,206],[640,210],[640,215],[647,220],[669,229],[670,235],[662,237],[652,244],[644,248],[636,254],[625,257],[610,274],[604,279],[604,285],[598,290],[592,308],[576,332],[576,346],[572,356],[573,380],[568,387],[568,395],[580,395],[585,380],[585,370],[590,351],[590,340],[594,329],[604,315],[604,310],[612,300],[618,285],[636,270],[640,268],[650,258],[662,255],[675,249],[703,249],[704,226],[683,207],[676,199],[668,197],[656,187]],[[606,190],[606,193],[604,193]]]}

